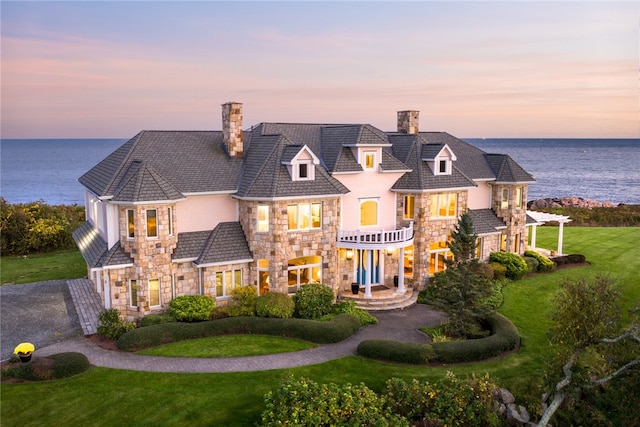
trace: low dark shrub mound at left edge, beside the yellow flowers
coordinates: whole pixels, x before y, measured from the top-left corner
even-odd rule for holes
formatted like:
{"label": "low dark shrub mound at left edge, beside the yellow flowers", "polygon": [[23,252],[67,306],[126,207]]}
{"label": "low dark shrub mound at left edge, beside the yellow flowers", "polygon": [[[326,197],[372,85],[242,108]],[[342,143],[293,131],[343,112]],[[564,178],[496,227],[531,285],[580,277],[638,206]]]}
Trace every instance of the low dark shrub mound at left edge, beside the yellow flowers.
{"label": "low dark shrub mound at left edge, beside the yellow flowers", "polygon": [[34,358],[29,363],[5,368],[2,370],[2,379],[55,380],[81,374],[90,367],[89,359],[82,353],[58,353],[48,357]]}

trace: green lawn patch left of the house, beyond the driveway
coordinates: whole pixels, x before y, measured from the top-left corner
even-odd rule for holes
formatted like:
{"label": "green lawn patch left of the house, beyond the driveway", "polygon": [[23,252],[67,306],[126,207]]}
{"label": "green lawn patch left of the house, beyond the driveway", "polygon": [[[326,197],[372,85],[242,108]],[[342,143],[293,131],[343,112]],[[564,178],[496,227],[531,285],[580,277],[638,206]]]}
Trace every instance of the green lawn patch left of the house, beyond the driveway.
{"label": "green lawn patch left of the house, beyond the driveway", "polygon": [[0,282],[32,283],[86,277],[87,264],[77,249],[0,259]]}

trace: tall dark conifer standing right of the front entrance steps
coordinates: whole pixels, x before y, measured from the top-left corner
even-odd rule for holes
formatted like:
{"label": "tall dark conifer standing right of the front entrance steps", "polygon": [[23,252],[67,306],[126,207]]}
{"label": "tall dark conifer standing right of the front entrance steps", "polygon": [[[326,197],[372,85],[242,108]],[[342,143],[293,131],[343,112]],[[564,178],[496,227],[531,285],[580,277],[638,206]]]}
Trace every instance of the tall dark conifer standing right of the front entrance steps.
{"label": "tall dark conifer standing right of the front entrance steps", "polygon": [[436,303],[449,317],[448,335],[477,335],[482,320],[492,311],[484,304],[493,288],[476,258],[477,240],[471,216],[465,213],[447,243],[453,259],[445,260],[447,269],[437,273],[432,281]]}

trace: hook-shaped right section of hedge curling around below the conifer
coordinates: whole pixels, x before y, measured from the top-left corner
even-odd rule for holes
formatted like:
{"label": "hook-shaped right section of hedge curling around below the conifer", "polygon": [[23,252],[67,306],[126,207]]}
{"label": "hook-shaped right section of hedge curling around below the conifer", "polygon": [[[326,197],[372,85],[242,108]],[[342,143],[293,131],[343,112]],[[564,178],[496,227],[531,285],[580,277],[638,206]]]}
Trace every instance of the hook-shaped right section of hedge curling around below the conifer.
{"label": "hook-shaped right section of hedge curling around below the conifer", "polygon": [[518,329],[503,315],[494,313],[486,323],[491,331],[487,338],[433,343],[433,360],[442,363],[475,362],[498,356],[520,344]]}

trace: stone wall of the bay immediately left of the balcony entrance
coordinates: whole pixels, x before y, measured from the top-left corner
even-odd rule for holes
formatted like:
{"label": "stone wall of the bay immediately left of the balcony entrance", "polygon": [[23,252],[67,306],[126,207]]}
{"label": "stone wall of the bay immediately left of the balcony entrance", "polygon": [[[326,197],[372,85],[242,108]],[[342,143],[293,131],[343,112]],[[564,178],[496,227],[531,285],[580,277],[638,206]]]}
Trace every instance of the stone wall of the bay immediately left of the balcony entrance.
{"label": "stone wall of the bay immediately left of the balcony entrance", "polygon": [[[320,230],[289,231],[287,205],[322,203]],[[269,231],[257,231],[258,205],[269,206]],[[253,253],[249,283],[257,285],[259,259],[269,260],[270,290],[288,292],[288,261],[292,258],[319,256],[322,258],[322,281],[334,290],[340,287],[336,241],[339,222],[339,199],[303,199],[295,201],[239,201],[240,224]]]}

